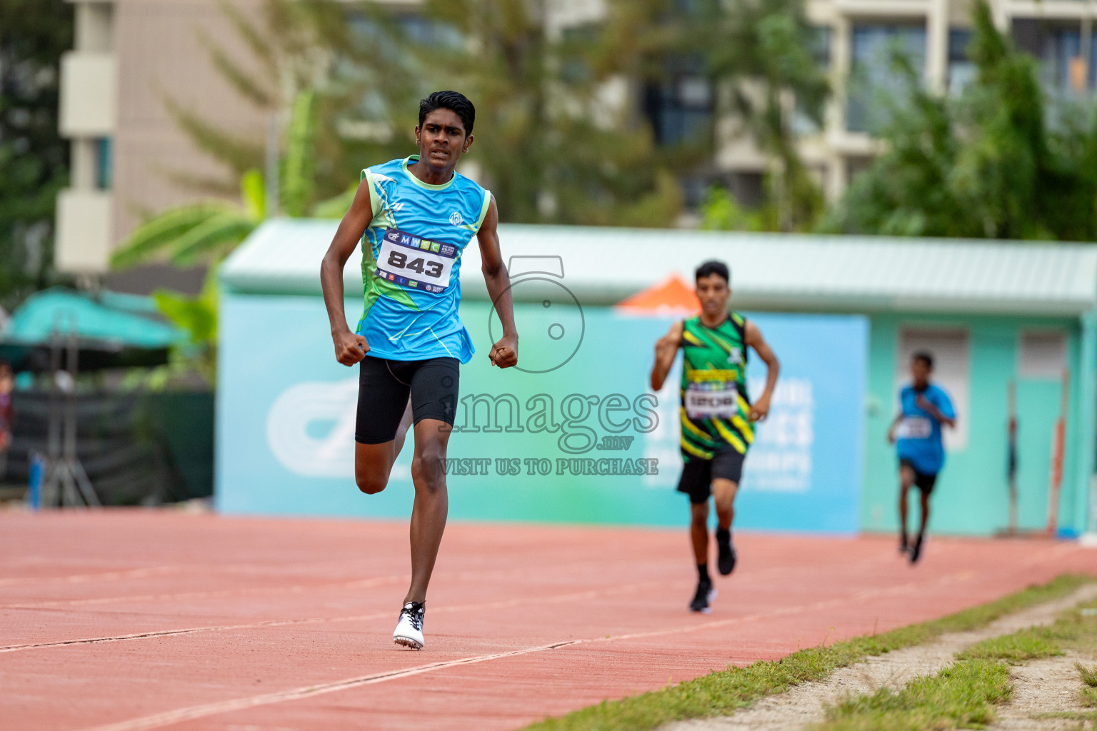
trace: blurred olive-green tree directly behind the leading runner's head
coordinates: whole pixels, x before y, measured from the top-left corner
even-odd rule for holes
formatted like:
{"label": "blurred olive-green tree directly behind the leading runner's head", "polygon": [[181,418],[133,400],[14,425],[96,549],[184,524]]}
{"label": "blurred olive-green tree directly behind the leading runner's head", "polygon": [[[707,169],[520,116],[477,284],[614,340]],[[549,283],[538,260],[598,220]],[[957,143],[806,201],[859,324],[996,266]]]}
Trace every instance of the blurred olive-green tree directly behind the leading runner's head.
{"label": "blurred olive-green tree directly behind the leading runner's head", "polygon": [[668,224],[681,207],[682,164],[618,95],[640,53],[624,32],[627,7],[609,7],[608,22],[558,28],[545,0],[425,0],[414,19],[371,3],[374,53],[355,69],[372,84],[363,113],[407,155],[418,100],[455,89],[476,105],[464,170],[491,189],[504,220]]}

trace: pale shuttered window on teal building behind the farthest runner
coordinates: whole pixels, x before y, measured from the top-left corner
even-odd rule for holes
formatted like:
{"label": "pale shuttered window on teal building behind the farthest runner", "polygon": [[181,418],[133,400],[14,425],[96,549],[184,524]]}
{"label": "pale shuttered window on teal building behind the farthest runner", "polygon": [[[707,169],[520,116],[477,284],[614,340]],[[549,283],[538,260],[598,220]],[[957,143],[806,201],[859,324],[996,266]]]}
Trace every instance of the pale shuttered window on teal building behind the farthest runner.
{"label": "pale shuttered window on teal building behind the farthest runner", "polygon": [[911,382],[911,358],[926,351],[934,356],[930,380],[943,388],[957,412],[955,429],[943,430],[945,448],[958,452],[968,447],[968,423],[971,421],[971,343],[966,330],[903,328],[898,334],[895,361],[895,399],[898,389]]}

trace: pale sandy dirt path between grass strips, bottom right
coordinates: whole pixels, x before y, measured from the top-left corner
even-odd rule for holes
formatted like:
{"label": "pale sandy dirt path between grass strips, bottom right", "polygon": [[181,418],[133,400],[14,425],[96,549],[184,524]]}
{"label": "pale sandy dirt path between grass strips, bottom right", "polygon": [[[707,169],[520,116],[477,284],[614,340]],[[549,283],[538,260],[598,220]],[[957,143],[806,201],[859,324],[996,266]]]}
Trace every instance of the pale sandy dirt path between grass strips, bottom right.
{"label": "pale sandy dirt path between grass strips, bottom right", "polygon": [[[1097,585],[1079,589],[1066,598],[1030,607],[1002,617],[985,628],[972,632],[945,635],[935,642],[872,658],[863,663],[836,671],[829,679],[804,683],[789,693],[766,698],[732,716],[679,721],[661,727],[660,731],[787,731],[824,720],[827,706],[847,696],[871,694],[881,687],[900,688],[918,675],[937,673],[952,662],[965,647],[999,635],[1015,632],[1034,625],[1048,625],[1055,616],[1079,602],[1097,596]],[[1082,710],[1077,700],[1078,672],[1075,658],[1056,658],[1015,669],[1015,699],[999,712],[994,728],[1009,729],[1076,729],[1077,721],[1034,721],[1032,715],[1062,710]],[[1067,687],[1070,686],[1070,687]],[[1073,694],[1073,695],[1072,695]],[[1072,705],[1073,704],[1073,705]],[[1047,723],[1047,726],[1040,724]]]}

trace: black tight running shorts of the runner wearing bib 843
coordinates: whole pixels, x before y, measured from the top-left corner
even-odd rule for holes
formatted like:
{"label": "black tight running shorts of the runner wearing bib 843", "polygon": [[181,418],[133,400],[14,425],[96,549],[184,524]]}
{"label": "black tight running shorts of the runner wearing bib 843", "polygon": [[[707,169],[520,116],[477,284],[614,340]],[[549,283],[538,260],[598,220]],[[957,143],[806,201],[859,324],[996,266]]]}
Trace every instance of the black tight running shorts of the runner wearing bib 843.
{"label": "black tight running shorts of the runner wearing bib 843", "polygon": [[452,426],[459,366],[456,358],[386,361],[366,355],[359,365],[354,441],[384,444],[396,438],[408,396],[414,423],[437,419]]}

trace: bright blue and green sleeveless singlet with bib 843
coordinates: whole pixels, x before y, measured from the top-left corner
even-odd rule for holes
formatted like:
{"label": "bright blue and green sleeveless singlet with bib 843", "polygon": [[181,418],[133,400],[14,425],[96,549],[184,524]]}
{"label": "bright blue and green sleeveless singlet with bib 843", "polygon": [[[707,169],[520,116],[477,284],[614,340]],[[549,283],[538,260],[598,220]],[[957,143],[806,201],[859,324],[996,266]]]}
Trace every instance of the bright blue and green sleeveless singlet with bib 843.
{"label": "bright blue and green sleeveless singlet with bib 843", "polygon": [[373,220],[362,237],[365,301],[357,332],[374,357],[468,363],[475,349],[457,317],[461,254],[484,222],[491,194],[456,172],[442,185],[425,183],[408,170],[418,159],[362,171]]}

